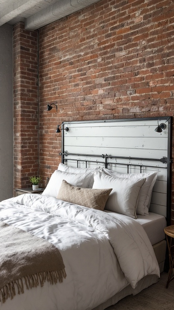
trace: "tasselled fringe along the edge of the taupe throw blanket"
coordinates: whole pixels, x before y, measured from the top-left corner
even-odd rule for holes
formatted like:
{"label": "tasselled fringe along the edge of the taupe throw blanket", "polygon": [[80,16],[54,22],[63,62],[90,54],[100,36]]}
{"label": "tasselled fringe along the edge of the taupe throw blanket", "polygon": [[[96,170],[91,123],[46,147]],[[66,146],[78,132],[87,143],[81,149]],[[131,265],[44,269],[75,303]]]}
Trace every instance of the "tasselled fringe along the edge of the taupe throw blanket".
{"label": "tasselled fringe along the edge of the taupe throw blanket", "polygon": [[[5,301],[8,298],[13,299],[13,297],[17,294],[24,293],[24,283],[26,285],[27,290],[32,289],[33,287],[37,287],[38,285],[43,286],[46,281],[50,282],[50,284],[56,284],[57,281],[63,282],[63,278],[66,278],[65,269],[54,270],[54,271],[43,271],[38,272],[33,275],[25,276],[18,280],[9,282],[7,285],[0,289],[0,302]],[[23,282],[24,281],[24,282]]]}

